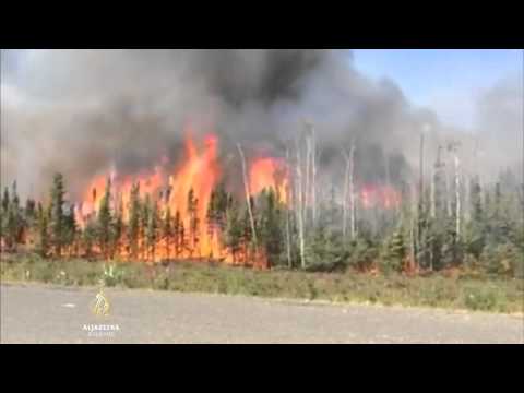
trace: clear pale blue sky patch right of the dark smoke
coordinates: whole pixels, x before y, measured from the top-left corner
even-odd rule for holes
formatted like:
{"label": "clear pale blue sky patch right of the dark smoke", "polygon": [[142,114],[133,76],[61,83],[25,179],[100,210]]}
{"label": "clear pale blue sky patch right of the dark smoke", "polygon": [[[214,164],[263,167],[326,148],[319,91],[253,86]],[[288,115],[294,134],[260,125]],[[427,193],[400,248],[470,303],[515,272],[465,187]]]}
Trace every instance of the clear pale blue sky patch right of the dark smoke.
{"label": "clear pale blue sky patch right of the dark smoke", "polygon": [[472,128],[475,103],[502,79],[522,81],[521,49],[355,49],[354,64],[373,79],[396,82],[414,105],[442,121]]}

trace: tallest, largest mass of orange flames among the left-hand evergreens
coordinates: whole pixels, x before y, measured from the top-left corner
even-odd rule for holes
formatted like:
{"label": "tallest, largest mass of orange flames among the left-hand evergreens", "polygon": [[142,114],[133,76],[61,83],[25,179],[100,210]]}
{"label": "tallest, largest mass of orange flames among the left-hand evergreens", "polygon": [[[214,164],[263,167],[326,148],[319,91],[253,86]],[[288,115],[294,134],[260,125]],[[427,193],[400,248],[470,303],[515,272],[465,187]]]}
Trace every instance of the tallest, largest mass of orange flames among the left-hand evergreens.
{"label": "tallest, largest mass of orange flames among the left-hand evergreens", "polygon": [[[131,190],[134,183],[140,184],[140,196],[150,195],[160,210],[165,213],[167,206],[171,214],[180,214],[184,228],[191,224],[191,212],[188,206],[188,194],[193,191],[193,198],[196,202],[194,216],[198,219],[198,246],[189,252],[184,250],[180,257],[209,257],[218,254],[218,242],[216,236],[210,236],[206,231],[206,213],[210,203],[211,193],[221,176],[221,168],[217,163],[217,139],[210,134],[204,138],[203,145],[198,146],[188,131],[184,146],[184,157],[177,168],[171,170],[171,175],[165,172],[162,166],[145,174],[136,176],[118,176],[111,172],[109,176],[96,176],[91,182],[83,199],[78,206],[76,221],[81,227],[85,227],[87,221],[93,218],[104,198],[108,179],[111,184],[112,209],[122,207],[123,219],[129,218]],[[164,159],[165,162],[165,159]],[[167,191],[169,190],[169,191]],[[162,198],[160,198],[162,196]],[[162,258],[162,252],[158,253]]]}

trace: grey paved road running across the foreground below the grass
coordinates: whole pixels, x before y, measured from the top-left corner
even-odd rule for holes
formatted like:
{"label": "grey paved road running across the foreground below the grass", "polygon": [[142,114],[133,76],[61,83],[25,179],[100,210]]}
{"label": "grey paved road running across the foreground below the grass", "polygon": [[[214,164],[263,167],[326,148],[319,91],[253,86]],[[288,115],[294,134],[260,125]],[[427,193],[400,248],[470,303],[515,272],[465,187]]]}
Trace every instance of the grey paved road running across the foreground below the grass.
{"label": "grey paved road running across the foreground below the grass", "polygon": [[[107,289],[100,318],[90,311],[96,293],[2,285],[0,342],[524,343],[522,315]],[[119,331],[93,337],[91,324]]]}

